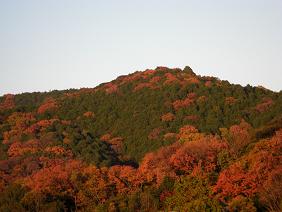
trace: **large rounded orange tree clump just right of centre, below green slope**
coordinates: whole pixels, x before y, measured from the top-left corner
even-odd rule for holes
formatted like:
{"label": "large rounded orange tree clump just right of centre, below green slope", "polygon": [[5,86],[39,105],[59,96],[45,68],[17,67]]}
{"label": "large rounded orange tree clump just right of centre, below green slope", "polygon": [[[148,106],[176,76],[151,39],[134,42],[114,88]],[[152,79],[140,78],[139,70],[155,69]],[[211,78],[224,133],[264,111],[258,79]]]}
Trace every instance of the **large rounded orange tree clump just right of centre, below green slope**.
{"label": "large rounded orange tree clump just right of centre, below green slope", "polygon": [[138,171],[146,181],[158,185],[165,176],[177,178],[179,171],[196,174],[203,169],[208,173],[216,170],[217,155],[227,147],[225,142],[212,136],[184,144],[175,142],[146,154]]}

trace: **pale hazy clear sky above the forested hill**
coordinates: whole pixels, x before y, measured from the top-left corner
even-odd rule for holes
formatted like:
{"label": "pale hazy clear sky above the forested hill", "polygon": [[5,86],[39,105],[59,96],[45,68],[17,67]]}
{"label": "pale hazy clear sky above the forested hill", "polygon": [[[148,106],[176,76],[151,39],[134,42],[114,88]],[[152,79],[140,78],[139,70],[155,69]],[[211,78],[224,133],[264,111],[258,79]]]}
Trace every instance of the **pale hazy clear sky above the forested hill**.
{"label": "pale hazy clear sky above the forested hill", "polygon": [[282,0],[0,0],[0,94],[185,65],[282,90]]}

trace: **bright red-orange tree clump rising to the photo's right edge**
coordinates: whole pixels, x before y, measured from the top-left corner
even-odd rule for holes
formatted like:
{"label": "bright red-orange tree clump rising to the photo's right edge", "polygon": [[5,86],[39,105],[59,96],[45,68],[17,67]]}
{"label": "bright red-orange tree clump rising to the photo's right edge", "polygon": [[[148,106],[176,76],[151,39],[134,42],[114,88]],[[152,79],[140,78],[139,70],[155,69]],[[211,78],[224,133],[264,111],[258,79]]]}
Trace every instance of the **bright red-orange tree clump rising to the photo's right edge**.
{"label": "bright red-orange tree clump rising to the photo's right edge", "polygon": [[214,188],[215,192],[222,198],[253,196],[263,184],[267,184],[272,171],[282,167],[281,155],[282,130],[270,140],[257,143],[248,155],[222,171]]}

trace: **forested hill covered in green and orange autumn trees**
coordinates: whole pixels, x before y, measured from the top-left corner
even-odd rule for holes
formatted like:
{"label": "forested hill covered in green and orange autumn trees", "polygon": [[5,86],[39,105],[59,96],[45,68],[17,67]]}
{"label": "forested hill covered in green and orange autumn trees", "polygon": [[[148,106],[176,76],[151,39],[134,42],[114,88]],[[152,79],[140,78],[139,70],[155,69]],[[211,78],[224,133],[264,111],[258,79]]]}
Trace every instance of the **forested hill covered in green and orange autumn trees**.
{"label": "forested hill covered in green and orange autumn trees", "polygon": [[0,97],[0,211],[281,211],[282,92],[157,67]]}

